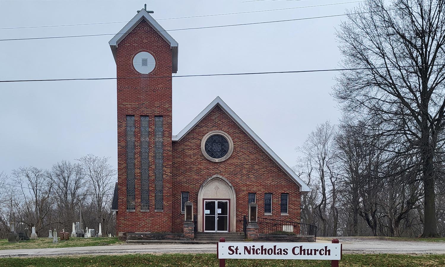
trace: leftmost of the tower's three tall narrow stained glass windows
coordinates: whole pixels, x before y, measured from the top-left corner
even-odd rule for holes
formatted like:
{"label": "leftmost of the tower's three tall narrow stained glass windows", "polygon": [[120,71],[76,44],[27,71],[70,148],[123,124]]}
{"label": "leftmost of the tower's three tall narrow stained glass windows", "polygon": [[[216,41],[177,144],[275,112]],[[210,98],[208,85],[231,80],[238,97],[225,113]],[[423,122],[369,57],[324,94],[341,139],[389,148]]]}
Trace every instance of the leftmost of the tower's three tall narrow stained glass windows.
{"label": "leftmost of the tower's three tall narrow stained glass windows", "polygon": [[134,210],[134,116],[126,116],[127,210]]}

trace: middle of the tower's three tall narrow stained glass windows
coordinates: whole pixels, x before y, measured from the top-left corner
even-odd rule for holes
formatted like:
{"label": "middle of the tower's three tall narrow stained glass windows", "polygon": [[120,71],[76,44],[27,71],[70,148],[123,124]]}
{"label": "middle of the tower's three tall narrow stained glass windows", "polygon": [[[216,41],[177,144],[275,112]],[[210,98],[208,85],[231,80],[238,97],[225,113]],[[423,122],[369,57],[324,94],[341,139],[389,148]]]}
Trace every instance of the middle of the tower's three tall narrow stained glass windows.
{"label": "middle of the tower's three tall narrow stained glass windows", "polygon": [[149,210],[148,116],[141,116],[141,210]]}

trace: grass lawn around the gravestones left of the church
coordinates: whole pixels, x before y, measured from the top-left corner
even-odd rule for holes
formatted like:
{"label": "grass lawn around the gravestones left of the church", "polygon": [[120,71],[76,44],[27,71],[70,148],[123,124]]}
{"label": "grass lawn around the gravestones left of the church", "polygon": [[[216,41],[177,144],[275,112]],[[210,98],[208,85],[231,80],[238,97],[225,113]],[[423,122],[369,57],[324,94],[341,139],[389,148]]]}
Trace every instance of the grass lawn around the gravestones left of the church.
{"label": "grass lawn around the gravestones left of the church", "polygon": [[60,240],[59,243],[53,243],[53,239],[38,238],[34,240],[20,241],[18,243],[8,243],[8,239],[0,240],[0,250],[4,249],[28,249],[28,248],[49,248],[49,247],[91,247],[107,246],[124,243],[117,240],[116,237],[95,237],[95,238],[76,238],[70,237],[69,240]]}

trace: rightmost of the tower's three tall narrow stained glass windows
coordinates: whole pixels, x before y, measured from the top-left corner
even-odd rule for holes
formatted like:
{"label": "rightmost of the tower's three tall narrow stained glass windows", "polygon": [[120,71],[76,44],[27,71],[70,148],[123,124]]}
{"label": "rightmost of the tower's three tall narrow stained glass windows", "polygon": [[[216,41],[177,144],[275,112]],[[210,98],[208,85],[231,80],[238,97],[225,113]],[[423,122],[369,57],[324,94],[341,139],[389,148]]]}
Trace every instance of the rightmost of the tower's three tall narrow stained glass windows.
{"label": "rightmost of the tower's three tall narrow stained glass windows", "polygon": [[164,126],[162,116],[154,117],[154,210],[164,209]]}

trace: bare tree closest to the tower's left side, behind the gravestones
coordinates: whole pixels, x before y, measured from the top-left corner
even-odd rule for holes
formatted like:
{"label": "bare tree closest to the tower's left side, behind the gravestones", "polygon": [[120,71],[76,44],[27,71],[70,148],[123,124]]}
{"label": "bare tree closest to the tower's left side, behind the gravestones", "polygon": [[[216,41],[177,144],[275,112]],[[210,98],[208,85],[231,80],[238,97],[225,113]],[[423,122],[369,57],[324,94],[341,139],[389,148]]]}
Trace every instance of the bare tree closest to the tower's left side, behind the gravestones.
{"label": "bare tree closest to the tower's left side, behind the gravestones", "polygon": [[96,222],[105,224],[103,213],[105,204],[109,204],[110,192],[113,189],[117,171],[108,163],[109,157],[97,157],[88,154],[77,159],[82,173],[89,180],[93,198],[96,204]]}

